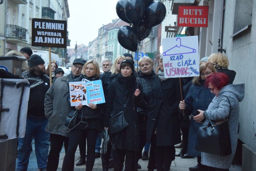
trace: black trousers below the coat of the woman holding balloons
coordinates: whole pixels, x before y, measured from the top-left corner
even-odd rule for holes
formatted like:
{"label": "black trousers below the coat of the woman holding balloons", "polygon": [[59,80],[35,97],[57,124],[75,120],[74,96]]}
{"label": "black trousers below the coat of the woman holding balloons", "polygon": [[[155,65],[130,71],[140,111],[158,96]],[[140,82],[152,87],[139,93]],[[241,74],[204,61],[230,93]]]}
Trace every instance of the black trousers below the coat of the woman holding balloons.
{"label": "black trousers below the coat of the woman holding balloons", "polygon": [[138,170],[138,151],[130,151],[125,149],[114,150],[114,171],[122,171],[125,158],[125,170]]}

